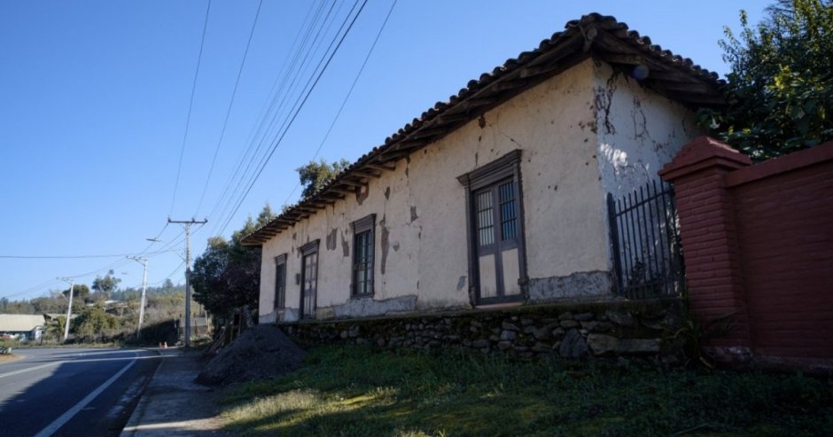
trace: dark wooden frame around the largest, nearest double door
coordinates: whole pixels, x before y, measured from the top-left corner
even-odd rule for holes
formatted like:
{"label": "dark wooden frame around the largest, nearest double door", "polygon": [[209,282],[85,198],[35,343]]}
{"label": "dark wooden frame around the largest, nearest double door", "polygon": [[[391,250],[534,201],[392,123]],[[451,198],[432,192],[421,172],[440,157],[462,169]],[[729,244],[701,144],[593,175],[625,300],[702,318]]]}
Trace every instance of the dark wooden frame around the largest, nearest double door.
{"label": "dark wooden frame around the largest, nearest double door", "polygon": [[[489,162],[483,167],[472,170],[463,176],[458,176],[457,181],[463,184],[465,188],[465,216],[466,216],[466,248],[469,255],[469,300],[472,306],[487,305],[502,302],[514,302],[518,300],[525,300],[527,295],[526,284],[528,277],[526,276],[526,238],[524,232],[524,189],[523,181],[521,179],[520,171],[521,150],[516,149],[512,152],[506,153],[497,160]],[[487,187],[494,186],[504,180],[511,179],[515,182],[517,192],[515,193],[518,202],[518,211],[516,212],[517,220],[517,236],[518,239],[518,283],[521,288],[521,293],[512,296],[503,296],[500,298],[485,298],[481,299],[479,296],[479,266],[478,266],[478,243],[477,239],[478,228],[476,220],[476,204],[475,194]],[[501,223],[494,223],[495,227],[500,227]],[[499,230],[496,230],[499,231]],[[496,234],[497,235],[497,234]],[[498,280],[502,280],[502,272]]]}

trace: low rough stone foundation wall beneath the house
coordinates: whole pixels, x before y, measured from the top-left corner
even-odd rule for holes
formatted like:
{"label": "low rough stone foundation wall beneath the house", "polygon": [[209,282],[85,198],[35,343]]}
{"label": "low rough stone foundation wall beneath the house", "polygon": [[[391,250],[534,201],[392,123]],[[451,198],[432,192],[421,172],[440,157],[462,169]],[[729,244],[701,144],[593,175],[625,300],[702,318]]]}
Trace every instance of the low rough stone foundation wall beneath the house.
{"label": "low rough stone foundation wall beneath the house", "polygon": [[572,302],[362,320],[282,324],[301,344],[469,349],[522,358],[610,357],[673,365],[684,360],[681,301]]}

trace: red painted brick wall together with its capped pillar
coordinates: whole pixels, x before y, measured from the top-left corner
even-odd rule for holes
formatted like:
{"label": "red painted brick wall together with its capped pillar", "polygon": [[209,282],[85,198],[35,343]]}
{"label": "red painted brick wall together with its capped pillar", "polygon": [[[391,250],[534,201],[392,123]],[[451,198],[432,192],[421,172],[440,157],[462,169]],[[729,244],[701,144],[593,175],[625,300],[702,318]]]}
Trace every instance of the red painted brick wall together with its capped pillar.
{"label": "red painted brick wall together with its capped pillar", "polygon": [[692,309],[734,313],[729,354],[833,359],[833,143],[755,166],[700,137],[674,183]]}

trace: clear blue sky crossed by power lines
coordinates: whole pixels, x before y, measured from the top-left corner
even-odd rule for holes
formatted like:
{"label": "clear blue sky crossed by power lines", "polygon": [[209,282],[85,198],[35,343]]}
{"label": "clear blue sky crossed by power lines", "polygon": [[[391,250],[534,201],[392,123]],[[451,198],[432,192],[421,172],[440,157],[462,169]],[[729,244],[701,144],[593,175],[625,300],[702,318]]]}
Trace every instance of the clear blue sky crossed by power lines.
{"label": "clear blue sky crossed by power lines", "polygon": [[[351,14],[353,0],[0,1],[0,297],[66,289],[56,277],[90,285],[108,269],[138,287],[128,254],[149,258],[151,285],[181,283],[183,228],[168,217],[208,220],[193,228],[199,255],[266,203],[297,200],[294,169],[319,146],[325,160],[356,160],[588,12],[722,76],[723,27],[739,28],[740,9],[756,23],[772,3],[369,0],[288,124],[362,2]],[[311,22],[325,24],[296,59],[307,67],[285,74]]]}

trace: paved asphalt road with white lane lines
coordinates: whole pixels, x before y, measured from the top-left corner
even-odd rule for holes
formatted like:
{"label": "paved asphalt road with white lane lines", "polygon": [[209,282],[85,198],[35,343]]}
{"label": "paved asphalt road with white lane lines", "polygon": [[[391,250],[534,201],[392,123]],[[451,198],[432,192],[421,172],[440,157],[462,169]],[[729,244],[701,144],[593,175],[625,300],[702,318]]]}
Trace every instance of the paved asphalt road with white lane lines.
{"label": "paved asphalt road with white lane lines", "polygon": [[0,435],[119,435],[159,365],[143,349],[15,349],[0,364]]}

